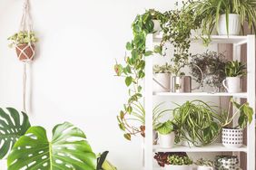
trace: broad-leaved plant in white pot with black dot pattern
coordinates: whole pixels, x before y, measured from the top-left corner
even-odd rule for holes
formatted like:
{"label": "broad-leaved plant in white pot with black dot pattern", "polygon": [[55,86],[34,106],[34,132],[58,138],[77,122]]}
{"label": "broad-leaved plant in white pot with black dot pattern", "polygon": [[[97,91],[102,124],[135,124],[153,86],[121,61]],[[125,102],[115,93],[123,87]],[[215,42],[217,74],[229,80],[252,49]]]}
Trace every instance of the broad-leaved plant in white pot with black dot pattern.
{"label": "broad-leaved plant in white pot with black dot pattern", "polygon": [[[231,114],[231,104],[236,108]],[[237,126],[228,127],[233,119],[239,114]],[[222,110],[220,120],[222,122],[222,144],[226,147],[240,147],[242,145],[242,131],[252,121],[253,109],[249,103],[239,104],[231,99],[229,109]]]}

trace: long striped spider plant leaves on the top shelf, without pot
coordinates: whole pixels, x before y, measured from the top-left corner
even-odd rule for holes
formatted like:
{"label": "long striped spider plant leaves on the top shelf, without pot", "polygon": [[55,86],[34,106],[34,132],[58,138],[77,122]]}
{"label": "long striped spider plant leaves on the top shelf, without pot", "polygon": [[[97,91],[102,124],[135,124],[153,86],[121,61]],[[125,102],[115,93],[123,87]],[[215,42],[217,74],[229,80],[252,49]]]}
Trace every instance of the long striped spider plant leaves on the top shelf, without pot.
{"label": "long striped spider plant leaves on the top shelf, without pot", "polygon": [[256,0],[201,0],[191,1],[187,12],[194,13],[195,20],[202,20],[202,34],[210,35],[219,22],[221,14],[226,16],[226,28],[229,34],[229,14],[240,14],[241,26],[248,23],[248,27],[255,33]]}

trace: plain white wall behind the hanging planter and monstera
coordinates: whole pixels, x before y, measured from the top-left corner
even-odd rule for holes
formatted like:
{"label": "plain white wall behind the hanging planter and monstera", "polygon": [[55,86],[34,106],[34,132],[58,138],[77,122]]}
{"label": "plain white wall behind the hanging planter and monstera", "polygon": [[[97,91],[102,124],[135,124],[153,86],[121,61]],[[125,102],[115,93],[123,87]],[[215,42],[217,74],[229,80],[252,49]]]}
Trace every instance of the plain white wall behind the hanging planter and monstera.
{"label": "plain white wall behind the hanging planter and monstera", "polygon": [[[140,138],[123,139],[116,115],[126,99],[114,77],[131,23],[144,9],[172,8],[166,0],[31,0],[40,42],[32,70],[33,125],[70,121],[84,129],[95,152],[109,150],[121,170],[140,169]],[[18,29],[23,0],[0,0],[0,103],[22,109],[22,63],[6,38]]]}

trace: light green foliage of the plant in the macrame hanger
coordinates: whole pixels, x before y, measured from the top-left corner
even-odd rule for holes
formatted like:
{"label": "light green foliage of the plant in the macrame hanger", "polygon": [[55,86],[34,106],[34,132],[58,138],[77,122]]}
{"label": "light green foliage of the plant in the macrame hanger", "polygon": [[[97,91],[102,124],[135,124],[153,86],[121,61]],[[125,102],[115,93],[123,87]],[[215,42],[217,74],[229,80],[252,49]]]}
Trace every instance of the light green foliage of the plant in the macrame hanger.
{"label": "light green foliage of the plant in the macrame hanger", "polygon": [[11,42],[9,47],[13,47],[14,45],[21,45],[25,43],[34,43],[38,42],[38,39],[35,36],[34,32],[28,31],[21,31],[19,33],[15,33],[14,35],[10,36],[8,40]]}

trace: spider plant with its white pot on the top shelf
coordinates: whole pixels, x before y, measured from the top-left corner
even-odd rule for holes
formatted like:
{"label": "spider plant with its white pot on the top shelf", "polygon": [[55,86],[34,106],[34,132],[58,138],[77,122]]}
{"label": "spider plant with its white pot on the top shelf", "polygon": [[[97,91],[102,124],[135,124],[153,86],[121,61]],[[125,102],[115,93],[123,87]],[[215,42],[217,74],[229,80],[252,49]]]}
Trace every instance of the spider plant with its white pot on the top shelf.
{"label": "spider plant with its white pot on the top shelf", "polygon": [[186,9],[202,20],[202,34],[211,35],[217,27],[220,35],[238,35],[245,23],[255,32],[255,6],[254,0],[202,0],[192,1]]}

